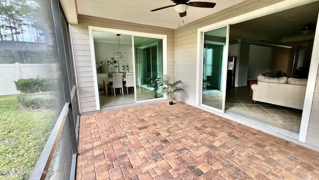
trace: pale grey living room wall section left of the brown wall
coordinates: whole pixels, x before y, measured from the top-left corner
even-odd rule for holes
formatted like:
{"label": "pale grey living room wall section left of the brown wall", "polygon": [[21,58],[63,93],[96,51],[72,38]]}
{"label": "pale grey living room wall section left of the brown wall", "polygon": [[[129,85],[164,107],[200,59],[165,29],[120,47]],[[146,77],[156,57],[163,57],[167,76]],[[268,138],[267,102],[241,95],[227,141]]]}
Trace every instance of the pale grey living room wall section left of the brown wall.
{"label": "pale grey living room wall section left of the brown wall", "polygon": [[265,46],[250,46],[248,62],[248,80],[256,79],[261,72],[270,72],[272,63],[272,48]]}

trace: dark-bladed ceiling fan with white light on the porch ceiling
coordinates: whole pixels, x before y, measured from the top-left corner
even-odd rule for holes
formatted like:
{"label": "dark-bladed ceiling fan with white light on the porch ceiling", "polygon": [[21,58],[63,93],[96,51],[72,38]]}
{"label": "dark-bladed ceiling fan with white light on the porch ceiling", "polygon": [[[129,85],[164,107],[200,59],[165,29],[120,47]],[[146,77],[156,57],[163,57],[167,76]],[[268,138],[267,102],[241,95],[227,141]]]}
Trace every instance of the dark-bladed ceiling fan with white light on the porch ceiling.
{"label": "dark-bladed ceiling fan with white light on the porch ceiling", "polygon": [[157,11],[157,10],[164,9],[167,7],[174,7],[174,9],[177,12],[179,12],[179,16],[184,17],[186,15],[186,10],[187,10],[188,6],[213,8],[216,5],[216,3],[214,3],[214,2],[201,2],[201,1],[188,2],[189,0],[171,0],[171,1],[173,1],[175,3],[175,5],[167,5],[164,7],[153,9],[151,11],[153,12],[153,11]]}

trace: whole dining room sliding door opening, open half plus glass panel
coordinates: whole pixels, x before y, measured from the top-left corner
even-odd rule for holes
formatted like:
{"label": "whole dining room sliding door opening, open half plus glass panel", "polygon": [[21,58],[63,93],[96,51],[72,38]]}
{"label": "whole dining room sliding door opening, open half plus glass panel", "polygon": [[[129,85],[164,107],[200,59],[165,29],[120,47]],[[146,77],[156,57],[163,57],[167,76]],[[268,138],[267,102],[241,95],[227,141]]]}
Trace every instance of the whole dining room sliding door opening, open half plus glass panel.
{"label": "whole dining room sliding door opening, open half plus glass panel", "polygon": [[[94,51],[92,59],[95,60],[94,80],[97,84],[95,94],[99,108],[123,106],[163,97],[154,80],[161,78],[165,72],[165,35],[101,27],[89,29],[92,32],[91,49]],[[120,40],[117,39],[119,34]],[[117,52],[125,52],[126,59],[116,60]],[[122,88],[117,88],[114,93],[113,74],[122,74],[123,92]],[[126,88],[125,85],[130,84],[127,78],[130,74],[130,77],[133,77],[133,85]]]}

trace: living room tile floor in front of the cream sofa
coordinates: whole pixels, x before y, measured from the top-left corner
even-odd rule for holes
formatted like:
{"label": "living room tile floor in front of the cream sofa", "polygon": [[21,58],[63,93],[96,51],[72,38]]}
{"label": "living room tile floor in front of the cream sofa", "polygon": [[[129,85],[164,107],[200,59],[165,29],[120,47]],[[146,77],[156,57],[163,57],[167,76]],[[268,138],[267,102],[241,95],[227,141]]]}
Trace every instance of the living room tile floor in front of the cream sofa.
{"label": "living room tile floor in front of the cream sofa", "polygon": [[[302,110],[258,102],[254,104],[249,95],[249,86],[233,87],[226,93],[226,113],[232,113],[244,119],[260,123],[262,126],[271,125],[287,130],[298,136],[301,124]],[[203,104],[221,109],[222,94],[214,91],[203,96]],[[272,127],[270,127],[272,128]],[[284,132],[285,133],[285,132]]]}

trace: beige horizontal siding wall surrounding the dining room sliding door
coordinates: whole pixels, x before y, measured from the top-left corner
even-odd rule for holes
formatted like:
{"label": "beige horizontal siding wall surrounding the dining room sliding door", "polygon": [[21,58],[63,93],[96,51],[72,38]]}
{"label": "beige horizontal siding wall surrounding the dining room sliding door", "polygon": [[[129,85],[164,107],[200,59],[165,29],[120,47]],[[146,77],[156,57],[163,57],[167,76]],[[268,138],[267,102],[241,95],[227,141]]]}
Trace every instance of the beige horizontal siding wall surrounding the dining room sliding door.
{"label": "beige horizontal siding wall surrounding the dining room sliding door", "polygon": [[116,21],[79,14],[79,25],[71,25],[71,38],[81,113],[95,111],[96,99],[88,26],[98,26],[167,35],[167,73],[174,77],[174,29]]}

